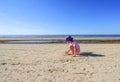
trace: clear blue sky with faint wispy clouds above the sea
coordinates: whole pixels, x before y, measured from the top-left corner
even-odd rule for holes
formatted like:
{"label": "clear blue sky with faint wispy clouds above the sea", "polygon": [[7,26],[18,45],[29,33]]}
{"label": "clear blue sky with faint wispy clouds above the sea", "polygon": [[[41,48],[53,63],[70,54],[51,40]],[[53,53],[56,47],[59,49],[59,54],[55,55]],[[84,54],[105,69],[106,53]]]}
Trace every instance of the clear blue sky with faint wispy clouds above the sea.
{"label": "clear blue sky with faint wispy clouds above the sea", "polygon": [[120,0],[0,0],[4,34],[120,34]]}

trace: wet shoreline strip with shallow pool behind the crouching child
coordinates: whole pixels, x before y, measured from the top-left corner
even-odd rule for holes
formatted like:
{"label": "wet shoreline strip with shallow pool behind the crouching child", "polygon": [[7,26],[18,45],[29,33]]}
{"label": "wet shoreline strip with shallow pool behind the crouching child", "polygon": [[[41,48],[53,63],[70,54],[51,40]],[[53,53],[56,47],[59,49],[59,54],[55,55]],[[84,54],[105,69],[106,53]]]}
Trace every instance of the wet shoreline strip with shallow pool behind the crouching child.
{"label": "wet shoreline strip with shallow pool behind the crouching child", "polygon": [[[120,43],[120,37],[74,37],[78,43]],[[65,43],[64,37],[4,37],[0,44]]]}

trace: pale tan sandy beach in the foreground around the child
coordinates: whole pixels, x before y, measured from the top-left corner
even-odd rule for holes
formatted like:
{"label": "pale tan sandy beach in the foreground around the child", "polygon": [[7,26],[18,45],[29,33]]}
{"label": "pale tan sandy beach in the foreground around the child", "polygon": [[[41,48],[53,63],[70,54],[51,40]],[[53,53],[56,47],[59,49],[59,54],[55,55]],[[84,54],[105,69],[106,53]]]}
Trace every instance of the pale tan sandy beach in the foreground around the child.
{"label": "pale tan sandy beach in the foreground around the child", "polygon": [[120,44],[0,44],[0,82],[120,82]]}

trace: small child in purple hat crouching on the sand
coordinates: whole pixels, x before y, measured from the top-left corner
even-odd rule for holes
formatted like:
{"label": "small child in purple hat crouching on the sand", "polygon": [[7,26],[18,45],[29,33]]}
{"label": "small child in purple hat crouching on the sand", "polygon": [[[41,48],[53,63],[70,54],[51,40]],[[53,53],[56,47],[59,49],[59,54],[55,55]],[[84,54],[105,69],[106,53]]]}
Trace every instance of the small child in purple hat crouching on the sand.
{"label": "small child in purple hat crouching on the sand", "polygon": [[77,42],[73,41],[71,36],[66,37],[66,42],[69,44],[69,50],[67,50],[65,54],[73,55],[73,57],[80,54],[80,46]]}

